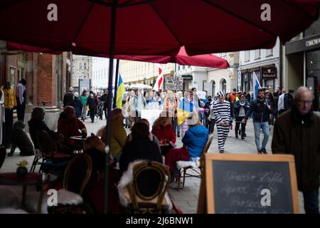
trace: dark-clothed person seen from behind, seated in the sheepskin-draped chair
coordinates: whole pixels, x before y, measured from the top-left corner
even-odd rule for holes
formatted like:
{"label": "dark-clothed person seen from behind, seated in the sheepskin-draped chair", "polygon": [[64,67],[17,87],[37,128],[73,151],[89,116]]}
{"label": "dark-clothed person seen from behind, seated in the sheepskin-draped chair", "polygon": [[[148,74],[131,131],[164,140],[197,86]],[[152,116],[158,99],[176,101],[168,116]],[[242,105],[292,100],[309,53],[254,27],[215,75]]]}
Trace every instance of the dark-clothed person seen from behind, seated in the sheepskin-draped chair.
{"label": "dark-clothed person seen from behind, seated in the sheepskin-draped chair", "polygon": [[119,160],[120,172],[127,170],[129,163],[135,160],[153,160],[163,163],[159,145],[149,138],[149,126],[145,123],[135,123],[132,127],[132,140],[127,142]]}

